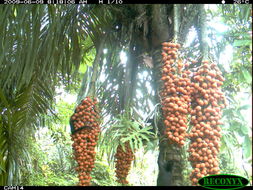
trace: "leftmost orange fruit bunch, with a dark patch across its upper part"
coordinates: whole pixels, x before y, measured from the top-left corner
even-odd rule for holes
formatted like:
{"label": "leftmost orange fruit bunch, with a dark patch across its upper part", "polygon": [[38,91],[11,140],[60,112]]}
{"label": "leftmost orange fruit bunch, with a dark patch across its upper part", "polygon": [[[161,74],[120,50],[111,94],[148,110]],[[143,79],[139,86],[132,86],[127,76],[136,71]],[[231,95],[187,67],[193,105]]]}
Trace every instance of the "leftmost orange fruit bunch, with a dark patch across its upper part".
{"label": "leftmost orange fruit bunch, with a dark patch across its upper part", "polygon": [[94,168],[95,146],[100,133],[99,114],[97,110],[97,99],[86,97],[71,116],[74,131],[71,140],[74,158],[78,163],[76,171],[79,173],[79,185],[89,186],[90,173]]}

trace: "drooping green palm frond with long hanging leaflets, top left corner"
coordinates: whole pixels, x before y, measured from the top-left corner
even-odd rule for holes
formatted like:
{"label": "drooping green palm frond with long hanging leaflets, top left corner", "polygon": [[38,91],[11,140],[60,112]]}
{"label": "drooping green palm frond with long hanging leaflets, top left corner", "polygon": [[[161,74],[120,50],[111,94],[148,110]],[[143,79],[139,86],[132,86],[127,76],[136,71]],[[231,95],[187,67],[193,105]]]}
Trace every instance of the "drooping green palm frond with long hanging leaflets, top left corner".
{"label": "drooping green palm frond with long hanging leaflets, top left corner", "polygon": [[[87,31],[77,5],[1,6],[0,86],[15,90],[39,77],[70,75],[78,68]],[[86,11],[88,12],[88,11]],[[12,94],[10,92],[9,94]]]}

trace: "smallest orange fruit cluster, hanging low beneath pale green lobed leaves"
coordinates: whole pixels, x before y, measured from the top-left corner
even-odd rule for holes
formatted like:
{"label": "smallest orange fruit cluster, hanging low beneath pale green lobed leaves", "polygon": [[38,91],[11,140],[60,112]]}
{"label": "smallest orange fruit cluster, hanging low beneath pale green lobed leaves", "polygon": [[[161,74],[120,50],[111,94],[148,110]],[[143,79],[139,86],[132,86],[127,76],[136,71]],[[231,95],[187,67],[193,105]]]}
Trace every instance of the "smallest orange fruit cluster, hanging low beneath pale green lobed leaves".
{"label": "smallest orange fruit cluster, hanging low beneath pale green lobed leaves", "polygon": [[125,144],[125,151],[123,150],[122,146],[119,145],[117,147],[117,152],[115,154],[115,162],[116,162],[116,177],[117,182],[121,184],[128,184],[129,182],[126,180],[127,175],[131,168],[131,163],[134,160],[134,153],[130,148],[129,142]]}

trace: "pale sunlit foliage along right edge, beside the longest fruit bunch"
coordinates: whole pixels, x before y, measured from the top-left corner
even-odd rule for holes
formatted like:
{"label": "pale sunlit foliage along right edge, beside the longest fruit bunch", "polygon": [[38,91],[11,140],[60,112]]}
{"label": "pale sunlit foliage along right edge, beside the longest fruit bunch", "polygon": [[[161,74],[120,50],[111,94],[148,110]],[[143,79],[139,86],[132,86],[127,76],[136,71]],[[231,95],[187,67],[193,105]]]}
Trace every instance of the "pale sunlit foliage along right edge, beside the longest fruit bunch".
{"label": "pale sunlit foliage along right edge, beside the longest fruit bunch", "polygon": [[[211,52],[216,60],[222,60],[219,67],[225,77],[222,86],[229,102],[224,109],[220,168],[223,173],[238,173],[250,178],[243,169],[252,164],[252,126],[246,118],[252,106],[252,6],[217,5],[209,10],[211,20],[218,20],[226,29],[210,27]],[[232,52],[226,52],[227,47]],[[228,55],[232,53],[232,55]],[[225,60],[225,57],[231,60]],[[225,65],[226,64],[226,65]]]}

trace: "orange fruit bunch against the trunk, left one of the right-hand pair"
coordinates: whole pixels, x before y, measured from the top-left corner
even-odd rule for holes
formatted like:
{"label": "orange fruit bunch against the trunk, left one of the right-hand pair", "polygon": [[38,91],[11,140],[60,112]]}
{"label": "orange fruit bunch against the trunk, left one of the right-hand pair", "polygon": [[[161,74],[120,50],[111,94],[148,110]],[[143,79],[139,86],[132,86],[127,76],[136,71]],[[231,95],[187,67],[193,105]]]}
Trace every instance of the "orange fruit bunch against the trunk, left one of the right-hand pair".
{"label": "orange fruit bunch against the trunk, left one of the right-hand pair", "polygon": [[187,114],[190,112],[191,80],[189,64],[177,59],[180,44],[164,42],[162,44],[162,78],[160,92],[165,125],[165,135],[170,142],[179,146],[185,144]]}

